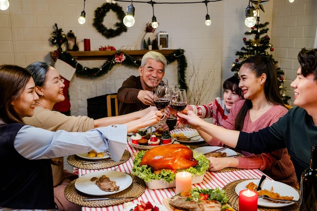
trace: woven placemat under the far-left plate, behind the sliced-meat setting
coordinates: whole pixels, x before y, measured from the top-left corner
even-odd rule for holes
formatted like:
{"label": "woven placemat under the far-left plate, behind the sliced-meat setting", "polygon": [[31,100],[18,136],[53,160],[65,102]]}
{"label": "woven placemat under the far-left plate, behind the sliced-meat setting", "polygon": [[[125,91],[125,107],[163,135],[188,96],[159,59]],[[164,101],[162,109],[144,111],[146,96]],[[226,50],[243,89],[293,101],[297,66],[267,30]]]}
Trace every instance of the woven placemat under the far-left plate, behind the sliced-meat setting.
{"label": "woven placemat under the far-left plate, behind the sliced-meat setting", "polygon": [[93,162],[93,161],[108,161],[111,160],[110,157],[101,159],[101,160],[89,160],[89,159],[84,159],[81,157],[78,157],[77,155],[70,155],[67,157],[67,162],[77,168],[85,169],[85,170],[98,170],[98,169],[103,169],[103,168],[110,168],[116,165],[120,165],[122,163],[127,162],[131,157],[131,154],[128,150],[125,150],[123,153],[123,156],[121,158],[121,161],[119,162],[101,162],[101,163],[94,163],[94,164],[86,164],[84,165],[84,162]]}

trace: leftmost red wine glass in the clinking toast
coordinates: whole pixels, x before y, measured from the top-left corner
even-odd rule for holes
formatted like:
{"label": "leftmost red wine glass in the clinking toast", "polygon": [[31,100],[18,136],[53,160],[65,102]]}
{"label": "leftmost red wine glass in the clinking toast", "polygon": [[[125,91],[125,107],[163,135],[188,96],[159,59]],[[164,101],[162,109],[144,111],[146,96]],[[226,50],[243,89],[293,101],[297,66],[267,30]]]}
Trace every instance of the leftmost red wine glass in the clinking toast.
{"label": "leftmost red wine glass in the clinking toast", "polygon": [[[162,110],[166,108],[171,101],[171,88],[165,85],[159,85],[156,87],[156,91],[154,93],[154,106]],[[162,127],[163,124],[166,122],[166,117],[163,115],[162,120],[159,121],[157,124],[154,124],[153,126],[155,128]]]}

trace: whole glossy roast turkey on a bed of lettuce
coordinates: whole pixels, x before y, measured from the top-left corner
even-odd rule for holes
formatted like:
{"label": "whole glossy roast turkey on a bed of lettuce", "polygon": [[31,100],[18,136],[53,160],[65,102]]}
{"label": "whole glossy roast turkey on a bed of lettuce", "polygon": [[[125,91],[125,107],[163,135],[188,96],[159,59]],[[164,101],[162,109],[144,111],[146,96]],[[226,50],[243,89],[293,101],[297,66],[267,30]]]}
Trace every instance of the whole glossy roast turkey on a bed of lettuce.
{"label": "whole glossy roast turkey on a bed of lettuce", "polygon": [[148,165],[154,171],[163,169],[183,170],[197,165],[192,150],[182,144],[153,147],[145,152],[140,165]]}

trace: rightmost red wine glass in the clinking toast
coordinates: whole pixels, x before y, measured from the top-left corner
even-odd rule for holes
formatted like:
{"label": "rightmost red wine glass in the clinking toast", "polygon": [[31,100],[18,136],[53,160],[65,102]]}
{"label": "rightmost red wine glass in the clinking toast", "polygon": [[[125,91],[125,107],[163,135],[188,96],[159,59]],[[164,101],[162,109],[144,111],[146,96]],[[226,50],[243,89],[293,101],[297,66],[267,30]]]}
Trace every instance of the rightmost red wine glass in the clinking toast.
{"label": "rightmost red wine glass in the clinking toast", "polygon": [[[174,89],[172,91],[172,99],[171,99],[171,108],[174,110],[181,112],[184,110],[187,106],[187,95],[186,90],[183,89]],[[184,129],[187,128],[185,125],[182,125],[178,123],[176,126],[174,126],[174,129]]]}

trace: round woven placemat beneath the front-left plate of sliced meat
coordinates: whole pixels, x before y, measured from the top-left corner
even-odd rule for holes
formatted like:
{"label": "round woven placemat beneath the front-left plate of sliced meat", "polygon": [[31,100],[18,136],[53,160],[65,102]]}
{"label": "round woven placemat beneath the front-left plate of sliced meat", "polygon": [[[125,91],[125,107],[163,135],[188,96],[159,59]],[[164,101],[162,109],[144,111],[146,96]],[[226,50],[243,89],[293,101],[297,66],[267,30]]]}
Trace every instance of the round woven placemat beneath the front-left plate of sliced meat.
{"label": "round woven placemat beneath the front-left plate of sliced meat", "polygon": [[[130,175],[130,174],[129,174]],[[65,197],[68,201],[71,203],[80,205],[80,206],[88,206],[88,207],[105,207],[105,206],[112,206],[112,205],[117,205],[117,204],[122,204],[128,201],[132,201],[139,196],[141,196],[146,188],[146,185],[144,181],[137,176],[130,175],[132,177],[132,184],[130,185],[129,188],[115,193],[111,195],[106,195],[106,196],[92,196],[88,195],[85,193],[82,193],[78,191],[75,188],[75,182],[76,180],[70,182],[64,191]],[[96,201],[84,201],[84,198],[104,198],[104,197],[109,197],[109,198],[116,198],[116,197],[133,197],[133,198],[127,198],[127,199],[120,199],[120,200],[96,200]]]}

